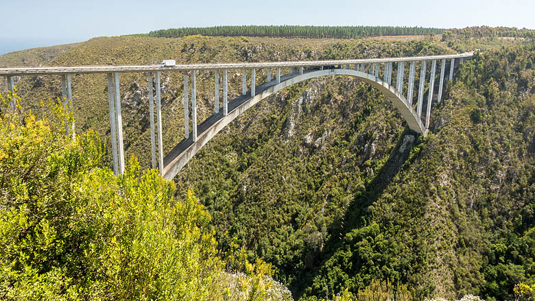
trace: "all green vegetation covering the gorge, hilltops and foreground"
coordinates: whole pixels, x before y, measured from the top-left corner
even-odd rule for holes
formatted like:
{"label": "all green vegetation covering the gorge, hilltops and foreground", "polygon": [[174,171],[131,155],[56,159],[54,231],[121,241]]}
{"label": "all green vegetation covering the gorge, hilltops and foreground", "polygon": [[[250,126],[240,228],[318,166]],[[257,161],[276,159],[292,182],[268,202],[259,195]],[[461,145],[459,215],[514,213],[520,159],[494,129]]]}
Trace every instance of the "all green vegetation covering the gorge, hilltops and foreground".
{"label": "all green vegetation covering the gorge, hilltops and foreground", "polygon": [[[121,74],[122,176],[110,169],[105,75],[73,75],[72,115],[60,105],[59,77],[17,78],[16,93],[0,84],[0,299],[534,300],[527,29],[385,40],[375,29],[286,38],[243,28],[93,38],[8,53],[0,66],[475,54],[433,103],[425,137],[369,84],[322,77],[243,113],[172,181],[147,168],[146,75]],[[199,122],[213,112],[213,76],[198,74]],[[257,82],[266,77],[257,71]],[[228,78],[234,99],[241,73]],[[182,75],[164,72],[162,82],[167,153],[184,135]]]}

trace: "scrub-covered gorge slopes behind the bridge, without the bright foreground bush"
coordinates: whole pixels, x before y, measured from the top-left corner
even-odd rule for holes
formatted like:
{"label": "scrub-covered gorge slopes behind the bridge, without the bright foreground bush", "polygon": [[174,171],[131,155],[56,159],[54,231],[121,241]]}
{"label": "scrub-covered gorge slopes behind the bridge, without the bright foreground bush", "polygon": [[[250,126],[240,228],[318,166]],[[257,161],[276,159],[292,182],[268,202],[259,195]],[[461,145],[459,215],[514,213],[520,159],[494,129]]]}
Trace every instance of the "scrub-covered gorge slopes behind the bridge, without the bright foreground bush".
{"label": "scrub-covered gorge slopes behind the bridge, without the bright foreground bush", "polygon": [[[95,38],[49,64],[418,56],[484,44],[447,39]],[[217,134],[174,180],[176,197],[187,203],[193,189],[220,250],[244,247],[250,261],[272,263],[296,299],[358,295],[390,280],[418,300],[512,300],[516,283],[535,282],[535,49],[529,39],[492,41],[456,70],[425,138],[367,84],[311,80]],[[126,152],[142,169],[150,156],[145,77],[121,75]],[[241,73],[229,80],[232,99]],[[37,114],[46,111],[40,100],[60,91],[55,77],[17,84]],[[73,77],[78,131],[108,139],[106,93],[104,76]],[[213,110],[213,73],[198,75],[198,103],[202,121]],[[163,73],[165,152],[182,139],[183,120],[182,76]]]}

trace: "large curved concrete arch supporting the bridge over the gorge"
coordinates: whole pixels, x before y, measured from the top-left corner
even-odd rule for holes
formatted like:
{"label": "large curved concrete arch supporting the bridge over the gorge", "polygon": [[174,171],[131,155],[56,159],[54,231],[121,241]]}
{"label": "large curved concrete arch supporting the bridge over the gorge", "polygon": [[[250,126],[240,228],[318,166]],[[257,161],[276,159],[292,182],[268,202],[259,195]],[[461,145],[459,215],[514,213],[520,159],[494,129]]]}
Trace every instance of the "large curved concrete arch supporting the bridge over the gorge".
{"label": "large curved concrete arch supporting the bridge over the gorge", "polygon": [[[161,171],[164,178],[172,180],[184,167],[187,162],[199,152],[199,150],[208,143],[219,131],[221,131],[230,121],[233,121],[241,115],[243,112],[257,104],[262,99],[269,97],[270,95],[281,91],[283,88],[303,82],[305,80],[311,80],[316,77],[329,76],[329,75],[349,75],[357,77],[359,80],[367,82],[374,88],[377,88],[381,93],[385,95],[387,99],[392,101],[392,104],[399,110],[401,116],[407,122],[407,125],[411,130],[420,134],[427,134],[425,125],[421,121],[416,110],[409,104],[407,99],[403,97],[394,86],[381,80],[379,77],[364,73],[361,71],[355,71],[353,69],[324,69],[318,71],[305,71],[303,74],[291,74],[285,77],[281,77],[281,82],[275,81],[265,83],[261,86],[257,86],[257,93],[254,97],[250,94],[248,97],[237,97],[237,99],[228,103],[228,114],[223,115],[222,112],[216,113],[206,119],[203,123],[198,125],[198,135],[196,141],[193,141],[190,136],[189,139],[183,139],[174,147],[163,160],[163,170]],[[234,104],[234,106],[232,105]]]}

